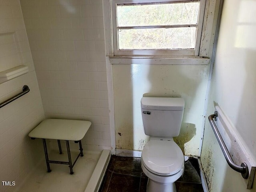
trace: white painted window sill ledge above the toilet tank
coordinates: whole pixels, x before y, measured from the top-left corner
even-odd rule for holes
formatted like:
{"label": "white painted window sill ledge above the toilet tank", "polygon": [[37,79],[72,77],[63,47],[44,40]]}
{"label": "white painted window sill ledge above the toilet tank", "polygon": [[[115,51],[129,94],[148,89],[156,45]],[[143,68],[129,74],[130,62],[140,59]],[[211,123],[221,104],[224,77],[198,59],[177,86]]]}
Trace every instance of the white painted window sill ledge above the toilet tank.
{"label": "white painted window sill ledge above the toilet tank", "polygon": [[110,64],[208,65],[205,57],[110,56]]}

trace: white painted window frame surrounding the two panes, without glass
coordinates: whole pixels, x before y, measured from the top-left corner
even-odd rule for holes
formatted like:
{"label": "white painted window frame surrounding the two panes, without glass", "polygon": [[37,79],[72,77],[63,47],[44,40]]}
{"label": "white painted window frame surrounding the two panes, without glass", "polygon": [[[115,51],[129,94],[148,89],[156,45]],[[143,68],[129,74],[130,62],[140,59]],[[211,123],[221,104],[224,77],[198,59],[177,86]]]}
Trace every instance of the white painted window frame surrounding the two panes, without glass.
{"label": "white painted window frame surrounding the two panes, without glass", "polygon": [[[198,22],[196,24],[196,39],[194,49],[149,49],[149,50],[119,50],[118,49],[118,29],[116,4],[148,4],[148,3],[168,3],[168,2],[195,2],[195,0],[112,0],[110,4],[111,20],[112,20],[112,48],[113,56],[168,56],[168,57],[184,57],[184,56],[200,56],[200,47],[202,44],[202,32],[204,25],[204,15],[206,0],[196,0],[200,2],[198,11]],[[178,25],[189,26],[189,25]],[[147,26],[148,27],[148,26]],[[122,27],[121,27],[122,28]],[[140,28],[137,26],[125,27],[125,28]],[[151,26],[152,28],[152,26]],[[177,25],[162,25],[162,28],[177,28]]]}

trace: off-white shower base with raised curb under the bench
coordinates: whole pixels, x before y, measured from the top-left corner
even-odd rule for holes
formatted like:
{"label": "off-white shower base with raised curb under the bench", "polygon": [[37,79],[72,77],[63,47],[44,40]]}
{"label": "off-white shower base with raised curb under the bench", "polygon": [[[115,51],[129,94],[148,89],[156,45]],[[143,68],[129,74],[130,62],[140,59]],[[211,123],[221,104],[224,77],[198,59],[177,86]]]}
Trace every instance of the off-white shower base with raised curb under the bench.
{"label": "off-white shower base with raised curb under the bench", "polygon": [[[68,161],[67,153],[49,153],[50,160]],[[72,160],[78,152],[71,151]],[[110,150],[87,151],[79,157],[70,174],[68,165],[50,164],[52,172],[48,173],[45,160],[26,178],[19,188],[9,188],[16,192],[96,192],[102,182],[110,160]],[[8,190],[7,190],[8,191]]]}

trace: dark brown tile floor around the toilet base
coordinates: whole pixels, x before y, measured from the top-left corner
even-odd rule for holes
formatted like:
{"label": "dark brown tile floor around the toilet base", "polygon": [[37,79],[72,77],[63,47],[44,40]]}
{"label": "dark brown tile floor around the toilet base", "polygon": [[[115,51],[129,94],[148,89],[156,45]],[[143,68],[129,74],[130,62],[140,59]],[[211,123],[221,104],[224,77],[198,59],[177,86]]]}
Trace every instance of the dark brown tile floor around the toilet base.
{"label": "dark brown tile floor around the toilet base", "polygon": [[[185,162],[182,178],[175,182],[177,192],[204,192],[196,158]],[[148,178],[140,167],[140,158],[112,156],[101,192],[146,192]]]}

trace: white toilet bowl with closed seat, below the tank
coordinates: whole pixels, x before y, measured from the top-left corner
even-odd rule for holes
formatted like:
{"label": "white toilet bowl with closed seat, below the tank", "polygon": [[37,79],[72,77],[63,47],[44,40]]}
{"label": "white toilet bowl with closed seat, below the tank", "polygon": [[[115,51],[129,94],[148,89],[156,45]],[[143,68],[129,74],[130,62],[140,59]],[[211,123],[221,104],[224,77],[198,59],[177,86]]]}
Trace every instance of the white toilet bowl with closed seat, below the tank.
{"label": "white toilet bowl with closed seat, below the tank", "polygon": [[141,167],[147,192],[176,192],[174,182],[184,173],[184,156],[173,138],[155,138],[144,146]]}

